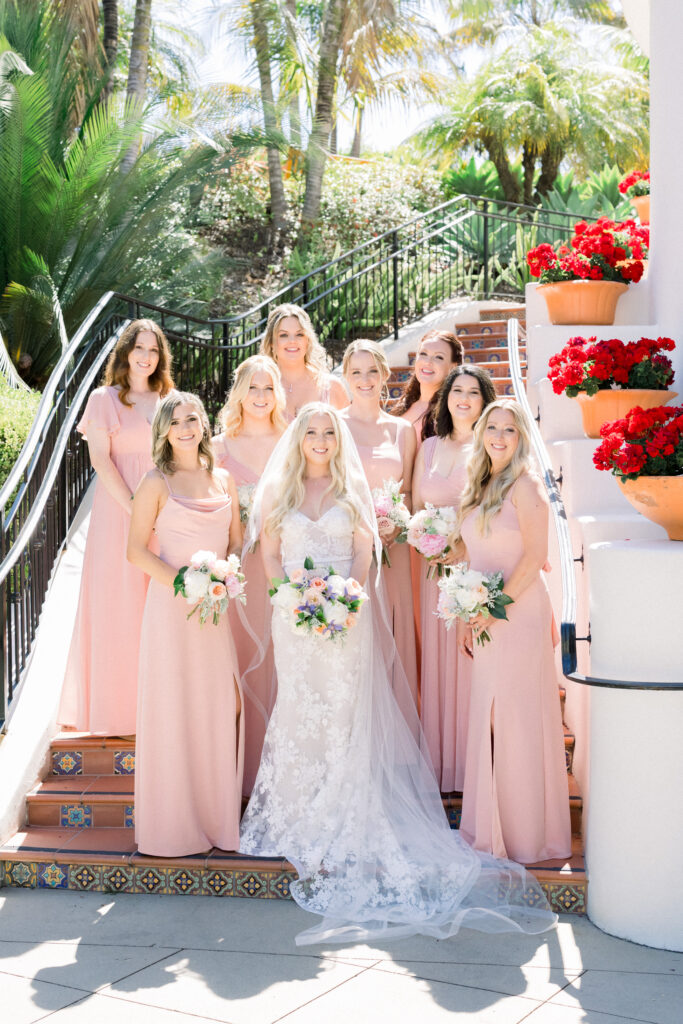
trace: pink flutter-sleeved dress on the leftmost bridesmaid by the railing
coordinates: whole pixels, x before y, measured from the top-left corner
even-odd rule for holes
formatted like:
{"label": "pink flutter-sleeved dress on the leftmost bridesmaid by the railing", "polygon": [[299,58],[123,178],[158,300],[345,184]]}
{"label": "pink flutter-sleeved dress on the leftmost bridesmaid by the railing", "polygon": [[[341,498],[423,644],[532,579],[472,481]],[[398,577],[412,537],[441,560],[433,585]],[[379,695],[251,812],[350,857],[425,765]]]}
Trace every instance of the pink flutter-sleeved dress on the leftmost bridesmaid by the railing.
{"label": "pink flutter-sleeved dress on the leftmost bridesmaid by the railing", "polygon": [[[87,437],[90,426],[106,430],[112,462],[134,492],[153,468],[152,427],[144,416],[124,406],[117,388],[98,387],[77,429]],[[126,558],[129,526],[130,516],[97,480],[57,715],[61,725],[81,732],[135,732],[140,624],[150,580]]]}

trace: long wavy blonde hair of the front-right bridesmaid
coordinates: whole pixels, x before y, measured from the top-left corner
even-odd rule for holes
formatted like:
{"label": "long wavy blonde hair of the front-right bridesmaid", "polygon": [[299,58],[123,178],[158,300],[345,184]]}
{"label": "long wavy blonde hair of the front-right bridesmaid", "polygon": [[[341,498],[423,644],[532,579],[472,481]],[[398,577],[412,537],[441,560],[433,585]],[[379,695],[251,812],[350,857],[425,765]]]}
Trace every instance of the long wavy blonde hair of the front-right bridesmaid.
{"label": "long wavy blonde hair of the front-right bridesmaid", "polygon": [[[488,418],[495,409],[503,409],[512,413],[519,440],[509,464],[500,473],[492,476],[490,459],[484,447],[483,439]],[[528,421],[519,402],[515,401],[514,398],[499,398],[490,406],[486,406],[474,427],[474,447],[467,464],[467,483],[460,506],[456,539],[460,537],[465,516],[477,506],[479,507],[477,516],[479,534],[481,537],[488,535],[490,521],[500,512],[510,487],[522,473],[529,472],[531,469],[530,453],[531,438]]]}

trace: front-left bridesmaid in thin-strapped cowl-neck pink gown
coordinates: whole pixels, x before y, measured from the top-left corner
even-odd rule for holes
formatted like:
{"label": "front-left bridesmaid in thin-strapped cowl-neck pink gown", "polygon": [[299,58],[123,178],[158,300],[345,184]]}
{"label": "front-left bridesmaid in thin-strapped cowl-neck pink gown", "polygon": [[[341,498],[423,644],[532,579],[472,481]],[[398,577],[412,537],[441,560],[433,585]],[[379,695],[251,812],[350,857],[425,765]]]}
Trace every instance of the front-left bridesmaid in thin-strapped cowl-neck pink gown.
{"label": "front-left bridesmaid in thin-strapped cowl-neck pink gown", "polygon": [[[128,558],[152,577],[142,618],[135,764],[140,853],[182,857],[240,843],[244,728],[227,616],[187,621],[173,580],[198,550],[241,548],[237,487],[214,469],[195,395],[176,392],[152,426],[153,469],[135,492]],[[156,530],[161,554],[153,554]],[[229,544],[228,544],[229,540]]]}

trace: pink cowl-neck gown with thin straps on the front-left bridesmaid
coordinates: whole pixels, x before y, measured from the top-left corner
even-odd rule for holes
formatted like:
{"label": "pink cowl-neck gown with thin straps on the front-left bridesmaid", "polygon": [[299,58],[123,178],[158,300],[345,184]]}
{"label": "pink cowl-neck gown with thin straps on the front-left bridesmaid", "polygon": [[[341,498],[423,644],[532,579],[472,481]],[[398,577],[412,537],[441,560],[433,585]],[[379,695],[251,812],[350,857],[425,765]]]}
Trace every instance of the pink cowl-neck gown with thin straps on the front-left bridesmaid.
{"label": "pink cowl-neck gown with thin straps on the front-left bridesmaid", "polygon": [[[227,495],[169,490],[156,524],[161,557],[174,568],[198,550],[224,558],[231,514]],[[152,580],[140,643],[135,840],[140,853],[160,857],[240,845],[244,716],[238,731],[234,644],[227,615],[200,626],[188,610]]]}

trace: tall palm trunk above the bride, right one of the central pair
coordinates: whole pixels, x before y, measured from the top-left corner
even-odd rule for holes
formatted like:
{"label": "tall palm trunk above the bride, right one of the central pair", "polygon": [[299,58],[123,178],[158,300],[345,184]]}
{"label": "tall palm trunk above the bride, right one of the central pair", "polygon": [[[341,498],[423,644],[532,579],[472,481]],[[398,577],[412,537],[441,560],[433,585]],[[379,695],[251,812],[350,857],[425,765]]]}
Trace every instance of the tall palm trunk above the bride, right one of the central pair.
{"label": "tall palm trunk above the bride, right one of the central pair", "polygon": [[323,175],[327,160],[326,144],[332,129],[332,112],[337,87],[337,65],[341,47],[342,28],[349,0],[329,0],[317,65],[315,113],[306,151],[306,190],[301,213],[301,236],[307,234],[317,219],[323,194]]}

